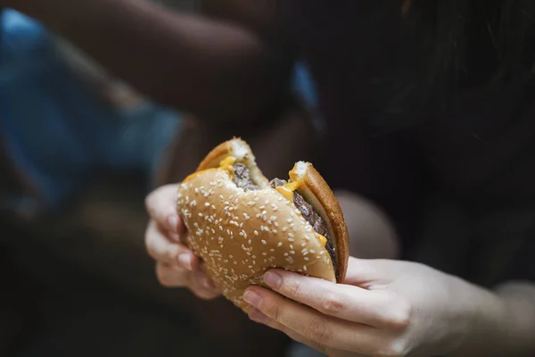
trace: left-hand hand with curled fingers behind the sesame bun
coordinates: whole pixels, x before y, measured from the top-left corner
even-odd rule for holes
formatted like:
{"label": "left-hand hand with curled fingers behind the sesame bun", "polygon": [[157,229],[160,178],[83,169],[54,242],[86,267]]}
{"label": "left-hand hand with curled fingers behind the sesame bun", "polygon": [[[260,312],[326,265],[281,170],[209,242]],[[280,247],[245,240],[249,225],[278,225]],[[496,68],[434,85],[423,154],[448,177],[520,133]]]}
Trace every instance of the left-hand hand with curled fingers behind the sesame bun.
{"label": "left-hand hand with curled fingers behind the sesame bun", "polygon": [[163,286],[187,287],[202,299],[215,298],[219,292],[202,272],[199,259],[181,243],[185,228],[177,215],[176,196],[177,185],[160,187],[148,195],[147,251],[156,260],[156,274]]}

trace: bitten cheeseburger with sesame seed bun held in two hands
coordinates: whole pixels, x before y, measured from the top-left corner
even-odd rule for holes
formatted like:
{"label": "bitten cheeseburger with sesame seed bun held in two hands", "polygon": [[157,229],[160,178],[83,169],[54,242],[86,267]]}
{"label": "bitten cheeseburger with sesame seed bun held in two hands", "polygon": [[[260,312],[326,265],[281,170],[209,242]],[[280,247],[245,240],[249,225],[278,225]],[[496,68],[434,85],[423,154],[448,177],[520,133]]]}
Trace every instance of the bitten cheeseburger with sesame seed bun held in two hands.
{"label": "bitten cheeseburger with sesame seed bun held in two hands", "polygon": [[349,259],[342,210],[309,162],[268,180],[235,138],[215,147],[178,187],[185,245],[222,294],[248,311],[243,293],[273,268],[341,282]]}

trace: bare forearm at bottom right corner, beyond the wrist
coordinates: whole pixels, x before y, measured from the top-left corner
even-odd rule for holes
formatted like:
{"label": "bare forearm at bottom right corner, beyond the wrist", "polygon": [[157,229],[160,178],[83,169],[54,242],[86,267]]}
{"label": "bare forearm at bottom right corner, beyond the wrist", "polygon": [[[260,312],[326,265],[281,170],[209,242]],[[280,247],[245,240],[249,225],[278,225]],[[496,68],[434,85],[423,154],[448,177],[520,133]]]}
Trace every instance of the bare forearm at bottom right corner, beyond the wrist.
{"label": "bare forearm at bottom right corner, beyond the wrist", "polygon": [[450,356],[535,355],[535,286],[509,284],[493,293],[477,289],[473,303],[472,328]]}

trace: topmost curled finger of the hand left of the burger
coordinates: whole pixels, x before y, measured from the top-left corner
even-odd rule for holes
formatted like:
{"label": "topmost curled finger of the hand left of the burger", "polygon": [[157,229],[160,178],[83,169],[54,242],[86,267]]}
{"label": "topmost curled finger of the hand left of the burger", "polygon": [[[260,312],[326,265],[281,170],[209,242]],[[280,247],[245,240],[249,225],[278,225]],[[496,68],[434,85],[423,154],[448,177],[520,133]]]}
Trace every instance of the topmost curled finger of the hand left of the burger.
{"label": "topmost curled finger of the hand left of the burger", "polygon": [[174,233],[184,230],[177,214],[177,185],[166,185],[152,191],[145,199],[147,212],[158,225]]}

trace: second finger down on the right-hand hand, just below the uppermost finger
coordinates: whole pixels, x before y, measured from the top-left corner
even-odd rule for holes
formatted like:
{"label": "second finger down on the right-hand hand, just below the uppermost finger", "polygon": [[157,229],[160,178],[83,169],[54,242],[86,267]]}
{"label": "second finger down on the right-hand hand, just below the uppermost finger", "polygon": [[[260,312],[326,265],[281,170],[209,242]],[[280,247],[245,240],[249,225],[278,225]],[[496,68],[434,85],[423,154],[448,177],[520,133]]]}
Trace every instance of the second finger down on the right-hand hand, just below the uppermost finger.
{"label": "second finger down on the right-hand hand, just below the uppermost finger", "polygon": [[375,355],[388,342],[383,329],[325,316],[259,286],[248,288],[243,298],[268,317],[258,322],[268,326],[277,322],[325,347]]}

